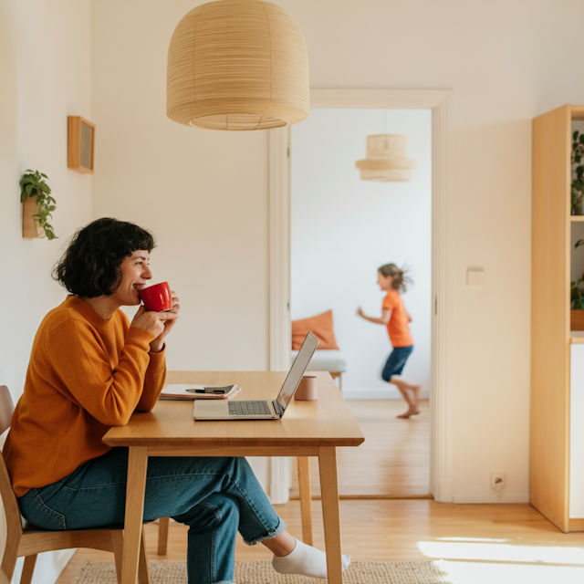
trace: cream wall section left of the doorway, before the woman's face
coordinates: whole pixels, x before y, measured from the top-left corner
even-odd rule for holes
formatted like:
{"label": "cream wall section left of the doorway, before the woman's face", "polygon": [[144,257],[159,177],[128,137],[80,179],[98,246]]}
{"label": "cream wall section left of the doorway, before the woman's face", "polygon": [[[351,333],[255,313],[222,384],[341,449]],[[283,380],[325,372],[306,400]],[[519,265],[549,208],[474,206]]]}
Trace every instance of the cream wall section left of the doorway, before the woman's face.
{"label": "cream wall section left of the doorway, before the woman's face", "polygon": [[266,130],[195,130],[166,117],[169,42],[196,4],[93,3],[93,214],[156,235],[154,279],[182,305],[170,370],[266,370]]}

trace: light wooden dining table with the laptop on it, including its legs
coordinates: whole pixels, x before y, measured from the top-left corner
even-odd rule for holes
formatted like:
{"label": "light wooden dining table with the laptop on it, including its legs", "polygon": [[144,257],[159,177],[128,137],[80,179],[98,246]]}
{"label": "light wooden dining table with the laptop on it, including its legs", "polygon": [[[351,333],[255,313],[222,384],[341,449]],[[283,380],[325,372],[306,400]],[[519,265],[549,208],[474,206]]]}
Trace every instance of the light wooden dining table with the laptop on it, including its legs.
{"label": "light wooden dining table with the laptop on it, including its legs", "polygon": [[[358,446],[363,434],[337,385],[325,371],[318,400],[292,400],[281,420],[195,421],[193,401],[158,401],[134,413],[103,438],[129,448],[122,584],[136,584],[149,456],[297,456],[303,539],[312,543],[308,456],[318,456],[328,582],[342,583],[337,447]],[[284,371],[169,371],[167,383],[237,384],[235,400],[275,399]],[[309,540],[309,541],[307,541]]]}

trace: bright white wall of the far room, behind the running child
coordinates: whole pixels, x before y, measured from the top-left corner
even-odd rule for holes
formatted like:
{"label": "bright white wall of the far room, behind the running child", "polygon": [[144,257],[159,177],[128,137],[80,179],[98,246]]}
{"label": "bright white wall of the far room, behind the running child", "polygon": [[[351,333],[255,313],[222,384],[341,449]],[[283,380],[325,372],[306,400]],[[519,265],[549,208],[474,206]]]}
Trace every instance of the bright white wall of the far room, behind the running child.
{"label": "bright white wall of the far room, behind the running child", "polygon": [[[410,268],[403,295],[415,349],[403,375],[430,386],[432,263],[432,135],[430,110],[313,109],[292,127],[291,318],[332,309],[335,338],[348,361],[343,393],[350,398],[401,399],[381,380],[391,351],[387,328],[356,315],[381,316],[385,296],[377,268]],[[405,183],[361,181],[370,134],[407,137],[418,162]]]}

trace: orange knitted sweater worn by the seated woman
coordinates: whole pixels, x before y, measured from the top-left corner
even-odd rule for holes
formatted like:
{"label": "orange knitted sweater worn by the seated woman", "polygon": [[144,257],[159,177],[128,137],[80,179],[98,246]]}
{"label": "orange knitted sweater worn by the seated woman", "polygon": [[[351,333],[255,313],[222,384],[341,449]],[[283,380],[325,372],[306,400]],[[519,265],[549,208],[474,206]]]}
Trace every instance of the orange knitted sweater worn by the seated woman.
{"label": "orange knitted sweater worn by the seated woman", "polygon": [[5,443],[16,496],[106,454],[111,426],[151,411],[166,376],[165,351],[149,352],[153,339],[121,310],[104,320],[78,297],[47,314]]}

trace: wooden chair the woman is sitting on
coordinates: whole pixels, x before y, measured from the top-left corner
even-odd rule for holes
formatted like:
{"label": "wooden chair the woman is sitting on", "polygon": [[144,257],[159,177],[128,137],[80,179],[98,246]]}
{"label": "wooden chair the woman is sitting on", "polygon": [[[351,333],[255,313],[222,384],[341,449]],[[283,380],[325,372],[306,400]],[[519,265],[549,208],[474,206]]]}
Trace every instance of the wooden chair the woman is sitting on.
{"label": "wooden chair the woman is sitting on", "polygon": [[[14,409],[15,406],[8,388],[5,385],[0,385],[0,434],[5,433],[10,427]],[[8,532],[4,557],[2,558],[2,571],[8,581],[12,579],[14,574],[16,558],[25,558],[25,567],[20,583],[30,584],[33,579],[37,554],[71,547],[92,547],[113,552],[118,582],[120,582],[123,526],[50,531],[29,524],[20,515],[18,501],[12,489],[12,481],[2,455],[0,455],[0,495],[2,495],[4,504]],[[148,560],[144,550],[143,527],[138,579],[141,584],[150,584]]]}

